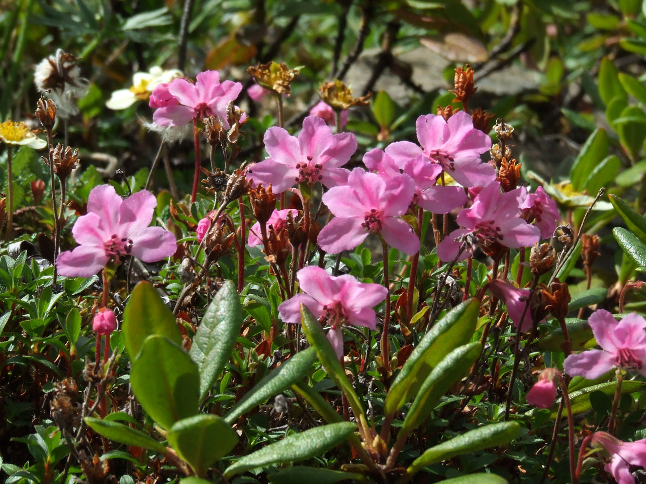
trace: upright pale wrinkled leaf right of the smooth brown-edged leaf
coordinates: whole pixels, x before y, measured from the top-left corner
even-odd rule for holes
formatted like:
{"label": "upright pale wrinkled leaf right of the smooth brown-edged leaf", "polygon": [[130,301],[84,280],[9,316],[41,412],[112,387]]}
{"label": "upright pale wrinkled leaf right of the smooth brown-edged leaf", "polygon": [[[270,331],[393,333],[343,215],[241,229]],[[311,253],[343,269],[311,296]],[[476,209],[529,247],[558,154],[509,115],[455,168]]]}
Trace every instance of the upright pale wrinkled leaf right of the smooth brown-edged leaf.
{"label": "upright pale wrinkled leaf right of the smooth brown-edged leaf", "polygon": [[211,390],[229,361],[242,321],[238,291],[227,281],[209,304],[191,345],[191,358],[200,368],[200,397]]}

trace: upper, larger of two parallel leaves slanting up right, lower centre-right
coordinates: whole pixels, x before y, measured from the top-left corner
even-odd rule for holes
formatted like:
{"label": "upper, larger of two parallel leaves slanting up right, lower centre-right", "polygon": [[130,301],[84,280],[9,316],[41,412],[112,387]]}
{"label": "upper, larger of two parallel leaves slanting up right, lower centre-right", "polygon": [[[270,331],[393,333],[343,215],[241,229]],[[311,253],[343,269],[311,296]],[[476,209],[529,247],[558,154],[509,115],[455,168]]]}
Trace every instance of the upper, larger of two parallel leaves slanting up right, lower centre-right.
{"label": "upper, larger of two parallel leaves slanting up right, lower centre-right", "polygon": [[388,390],[384,412],[393,414],[417,394],[426,376],[454,348],[474,336],[480,303],[469,299],[450,310],[421,339]]}

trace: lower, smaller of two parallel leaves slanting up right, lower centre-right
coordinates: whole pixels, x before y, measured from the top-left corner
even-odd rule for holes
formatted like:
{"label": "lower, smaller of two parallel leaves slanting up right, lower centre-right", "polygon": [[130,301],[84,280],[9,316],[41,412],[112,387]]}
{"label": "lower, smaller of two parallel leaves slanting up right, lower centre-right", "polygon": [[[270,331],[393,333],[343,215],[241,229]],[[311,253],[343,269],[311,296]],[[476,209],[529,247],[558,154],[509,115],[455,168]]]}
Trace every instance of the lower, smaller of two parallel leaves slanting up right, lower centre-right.
{"label": "lower, smaller of two parallel leaves slanting up right, lower centre-right", "polygon": [[455,348],[440,361],[426,378],[413,400],[397,440],[406,438],[430,416],[437,402],[447,390],[466,374],[480,355],[482,346],[478,341]]}

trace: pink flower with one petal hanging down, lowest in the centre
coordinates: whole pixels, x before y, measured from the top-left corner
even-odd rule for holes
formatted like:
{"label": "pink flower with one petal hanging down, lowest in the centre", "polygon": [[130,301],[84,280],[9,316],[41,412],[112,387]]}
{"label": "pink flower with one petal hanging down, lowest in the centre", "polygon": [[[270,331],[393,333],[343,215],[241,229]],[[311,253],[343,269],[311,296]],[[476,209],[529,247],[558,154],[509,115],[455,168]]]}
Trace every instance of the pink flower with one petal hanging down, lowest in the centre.
{"label": "pink flower with one petal hanging down, lowest in the centre", "polygon": [[360,283],[353,276],[330,276],[316,266],[307,266],[297,272],[303,294],[287,299],[278,306],[280,317],[286,323],[300,323],[300,305],[305,305],[322,325],[329,325],[328,339],[341,358],[343,355],[344,321],[355,326],[375,330],[377,316],[373,307],[386,299],[388,290],[380,284]]}

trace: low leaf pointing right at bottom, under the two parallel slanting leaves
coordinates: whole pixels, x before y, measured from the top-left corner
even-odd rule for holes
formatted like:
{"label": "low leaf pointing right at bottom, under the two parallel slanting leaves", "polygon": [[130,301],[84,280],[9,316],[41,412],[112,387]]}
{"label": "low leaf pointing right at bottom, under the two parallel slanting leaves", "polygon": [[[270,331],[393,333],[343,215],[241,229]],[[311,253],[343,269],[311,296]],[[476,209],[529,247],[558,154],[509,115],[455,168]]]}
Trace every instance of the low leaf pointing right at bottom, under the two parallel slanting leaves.
{"label": "low leaf pointing right at bottom, under the two parallel slanting leaves", "polygon": [[455,456],[462,456],[497,445],[506,445],[514,440],[520,431],[521,426],[517,422],[492,423],[479,429],[469,430],[426,450],[406,469],[406,475],[412,476],[427,465]]}

